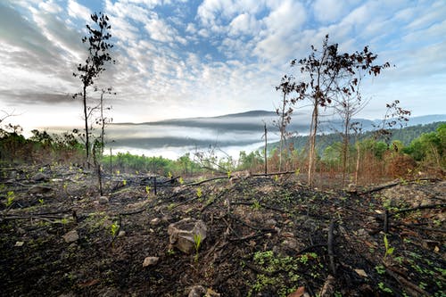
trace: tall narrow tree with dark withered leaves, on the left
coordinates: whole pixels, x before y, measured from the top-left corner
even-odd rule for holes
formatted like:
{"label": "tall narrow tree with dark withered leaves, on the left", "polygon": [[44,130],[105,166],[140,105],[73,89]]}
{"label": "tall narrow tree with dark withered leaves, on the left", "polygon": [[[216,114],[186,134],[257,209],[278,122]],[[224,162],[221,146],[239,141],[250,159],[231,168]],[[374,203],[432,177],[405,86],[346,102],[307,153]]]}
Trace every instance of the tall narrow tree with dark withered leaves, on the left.
{"label": "tall narrow tree with dark withered leaves, on the left", "polygon": [[87,152],[87,166],[89,168],[89,155],[90,155],[90,142],[89,142],[89,130],[88,130],[88,118],[91,112],[87,113],[87,88],[95,84],[95,79],[99,78],[99,75],[105,70],[105,64],[108,62],[115,63],[111,59],[110,50],[111,45],[108,40],[111,38],[109,30],[111,25],[107,15],[99,12],[98,14],[91,15],[94,26],[87,24],[87,36],[82,37],[82,43],[88,42],[88,54],[84,64],[79,63],[77,73],[73,73],[73,76],[79,78],[82,82],[82,92],[74,95],[82,96],[84,107],[84,120],[85,120],[85,144]]}

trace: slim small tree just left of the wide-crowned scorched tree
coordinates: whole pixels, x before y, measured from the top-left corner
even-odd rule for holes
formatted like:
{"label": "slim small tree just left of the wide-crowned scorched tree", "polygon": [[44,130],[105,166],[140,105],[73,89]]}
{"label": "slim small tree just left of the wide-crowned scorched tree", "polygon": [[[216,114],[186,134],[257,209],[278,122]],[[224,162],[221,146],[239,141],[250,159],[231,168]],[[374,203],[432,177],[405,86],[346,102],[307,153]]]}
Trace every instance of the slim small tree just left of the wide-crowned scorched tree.
{"label": "slim small tree just left of the wide-crowned scorched tree", "polygon": [[288,98],[295,89],[295,81],[293,76],[284,76],[276,90],[282,92],[282,100],[279,108],[276,109],[276,113],[279,116],[278,121],[274,121],[274,124],[279,129],[280,133],[280,148],[279,148],[279,171],[282,171],[282,153],[284,152],[284,145],[286,138],[291,136],[291,133],[286,131],[286,127],[291,122],[291,115],[293,114],[293,108],[290,106],[291,100]]}

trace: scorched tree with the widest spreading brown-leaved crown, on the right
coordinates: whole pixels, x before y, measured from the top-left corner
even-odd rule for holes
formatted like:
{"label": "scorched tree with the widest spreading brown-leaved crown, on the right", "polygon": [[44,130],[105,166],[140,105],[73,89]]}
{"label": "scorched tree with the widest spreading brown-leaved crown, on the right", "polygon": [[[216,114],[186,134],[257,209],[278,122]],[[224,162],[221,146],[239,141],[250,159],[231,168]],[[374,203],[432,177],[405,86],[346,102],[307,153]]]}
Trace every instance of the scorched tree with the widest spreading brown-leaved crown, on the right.
{"label": "scorched tree with the widest spreading brown-leaved crown, on the right", "polygon": [[307,76],[295,85],[297,96],[292,102],[308,99],[312,107],[310,122],[310,152],[308,182],[312,186],[316,161],[316,135],[318,134],[319,108],[330,105],[341,95],[351,96],[359,83],[360,73],[378,75],[384,68],[390,67],[388,62],[375,65],[376,54],[368,51],[368,46],[361,52],[339,54],[338,45],[328,45],[328,35],[322,50],[311,45],[311,53],[307,58],[294,59],[291,66],[300,66],[302,76]]}

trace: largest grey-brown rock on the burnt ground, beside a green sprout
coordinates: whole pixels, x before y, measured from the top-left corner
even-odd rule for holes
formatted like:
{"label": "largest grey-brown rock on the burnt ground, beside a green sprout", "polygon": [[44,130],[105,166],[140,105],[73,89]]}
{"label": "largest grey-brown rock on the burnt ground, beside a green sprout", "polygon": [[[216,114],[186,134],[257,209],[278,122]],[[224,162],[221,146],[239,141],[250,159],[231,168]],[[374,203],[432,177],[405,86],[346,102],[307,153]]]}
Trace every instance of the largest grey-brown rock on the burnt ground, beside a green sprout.
{"label": "largest grey-brown rock on the burnt ground, beside a green sprout", "polygon": [[207,227],[202,220],[181,219],[168,227],[170,245],[175,246],[181,252],[194,252],[194,236],[201,236],[201,241],[206,238]]}

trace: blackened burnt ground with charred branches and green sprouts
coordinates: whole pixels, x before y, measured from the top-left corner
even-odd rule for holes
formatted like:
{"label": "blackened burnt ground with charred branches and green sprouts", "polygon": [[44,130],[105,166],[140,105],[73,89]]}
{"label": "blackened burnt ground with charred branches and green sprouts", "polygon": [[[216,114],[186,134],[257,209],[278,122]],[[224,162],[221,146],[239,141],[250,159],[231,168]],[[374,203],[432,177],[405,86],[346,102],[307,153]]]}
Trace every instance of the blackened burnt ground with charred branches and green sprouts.
{"label": "blackened burnt ground with charred branches and green sprouts", "polygon": [[[151,177],[117,173],[107,202],[83,169],[0,170],[2,296],[446,295],[444,180],[348,193],[295,175],[159,177],[155,195]],[[207,226],[198,254],[169,246],[184,218]]]}

